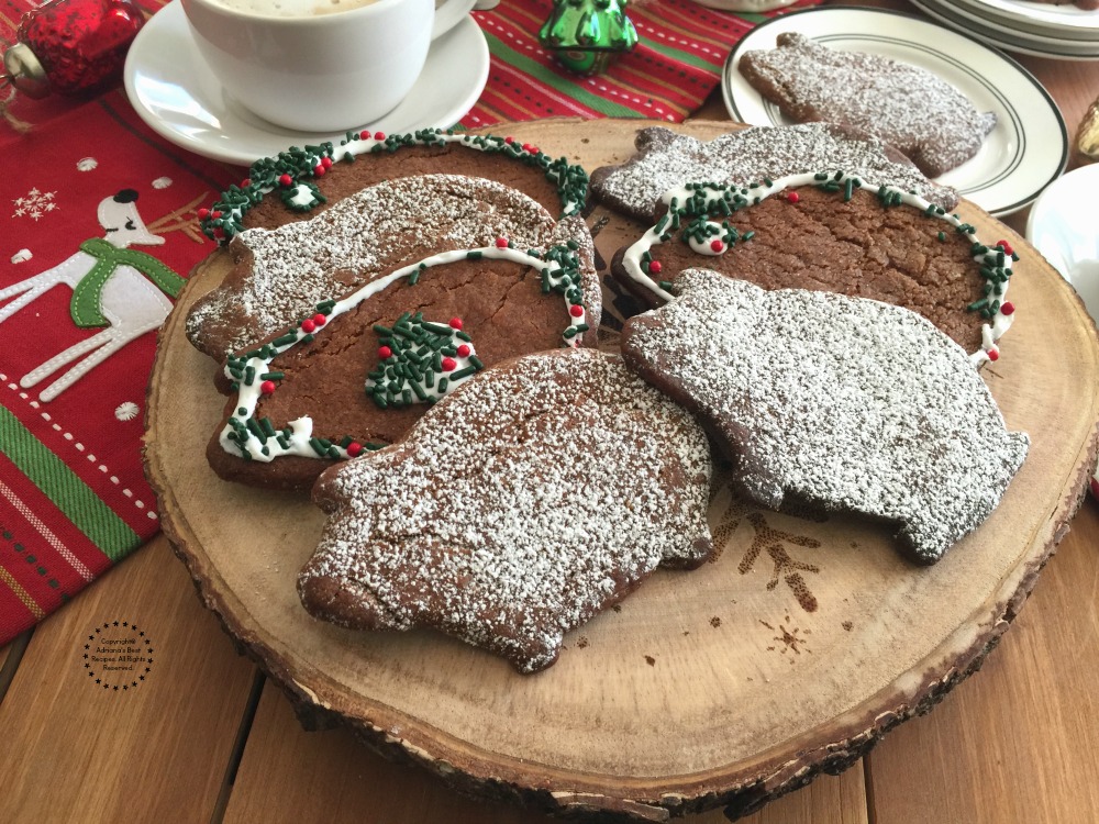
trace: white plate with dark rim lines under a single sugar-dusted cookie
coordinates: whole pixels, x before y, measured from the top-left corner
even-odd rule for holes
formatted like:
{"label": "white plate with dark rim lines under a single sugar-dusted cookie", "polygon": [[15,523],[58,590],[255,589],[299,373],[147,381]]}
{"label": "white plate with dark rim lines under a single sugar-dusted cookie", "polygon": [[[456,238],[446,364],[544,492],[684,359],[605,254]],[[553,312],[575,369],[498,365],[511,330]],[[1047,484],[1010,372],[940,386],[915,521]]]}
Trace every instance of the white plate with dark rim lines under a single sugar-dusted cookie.
{"label": "white plate with dark rim lines under a single sugar-dusted cookie", "polygon": [[1026,69],[970,37],[884,9],[818,8],[757,25],[729,55],[722,74],[725,108],[733,120],[752,125],[790,122],[736,69],[744,52],[775,48],[775,37],[782,32],[919,66],[951,83],[978,111],[996,112],[996,129],[976,157],[936,178],[993,215],[1030,203],[1068,162],[1068,130],[1061,111]]}

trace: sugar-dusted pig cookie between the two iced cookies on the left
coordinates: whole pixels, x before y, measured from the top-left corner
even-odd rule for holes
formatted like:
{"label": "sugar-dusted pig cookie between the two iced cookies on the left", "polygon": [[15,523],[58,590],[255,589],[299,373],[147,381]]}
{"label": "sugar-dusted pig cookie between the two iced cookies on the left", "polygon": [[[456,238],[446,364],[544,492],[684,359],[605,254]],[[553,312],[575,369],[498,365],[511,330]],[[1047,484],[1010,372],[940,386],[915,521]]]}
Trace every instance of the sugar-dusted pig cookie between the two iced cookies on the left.
{"label": "sugar-dusted pig cookie between the two iced cookies on the left", "polygon": [[491,180],[424,175],[378,183],[311,220],[236,235],[230,248],[251,252],[251,271],[198,302],[187,333],[200,338],[212,321],[238,319],[225,348],[241,349],[395,264],[487,246],[501,235],[519,247],[543,248],[555,225],[537,202]]}

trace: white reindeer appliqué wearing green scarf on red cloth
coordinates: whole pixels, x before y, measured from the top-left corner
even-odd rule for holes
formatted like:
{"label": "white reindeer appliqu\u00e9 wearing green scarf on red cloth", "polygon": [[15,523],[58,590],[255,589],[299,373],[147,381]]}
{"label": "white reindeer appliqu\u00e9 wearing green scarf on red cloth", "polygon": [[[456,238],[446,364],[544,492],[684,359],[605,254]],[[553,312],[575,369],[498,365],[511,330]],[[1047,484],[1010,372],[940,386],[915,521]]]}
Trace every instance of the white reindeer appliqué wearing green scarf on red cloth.
{"label": "white reindeer appliqu\u00e9 wearing green scarf on red cloth", "polygon": [[175,298],[187,282],[152,255],[127,248],[132,244],[164,243],[163,237],[145,229],[136,201],[133,189],[104,198],[97,213],[104,237],[85,241],[79,252],[52,269],[0,289],[0,301],[20,296],[0,308],[0,323],[65,283],[73,289],[69,311],[77,326],[106,327],[23,376],[19,383],[29,389],[86,355],[42,391],[42,401],[52,401],[127,343],[159,327],[171,311],[168,298]]}

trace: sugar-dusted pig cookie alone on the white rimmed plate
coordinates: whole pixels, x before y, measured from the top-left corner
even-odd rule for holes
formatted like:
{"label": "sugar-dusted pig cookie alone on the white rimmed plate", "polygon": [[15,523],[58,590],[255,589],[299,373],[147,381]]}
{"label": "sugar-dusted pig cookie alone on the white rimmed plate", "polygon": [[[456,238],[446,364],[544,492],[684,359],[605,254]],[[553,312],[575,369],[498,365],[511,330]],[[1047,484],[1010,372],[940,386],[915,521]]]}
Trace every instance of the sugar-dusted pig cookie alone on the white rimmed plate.
{"label": "sugar-dusted pig cookie alone on the white rimmed plate", "polygon": [[796,32],[778,35],[777,42],[777,48],[745,52],[737,64],[756,91],[800,123],[826,121],[875,134],[928,177],[976,155],[996,126],[995,113],[978,112],[925,69],[837,52]]}

